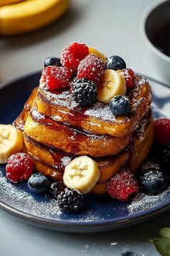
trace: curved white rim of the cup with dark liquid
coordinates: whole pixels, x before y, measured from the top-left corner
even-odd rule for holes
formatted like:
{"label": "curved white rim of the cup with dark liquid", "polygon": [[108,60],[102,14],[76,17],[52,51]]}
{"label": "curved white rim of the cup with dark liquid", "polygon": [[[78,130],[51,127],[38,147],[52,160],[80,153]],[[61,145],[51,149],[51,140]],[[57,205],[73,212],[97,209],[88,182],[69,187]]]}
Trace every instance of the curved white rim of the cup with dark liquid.
{"label": "curved white rim of the cup with dark liquid", "polygon": [[148,9],[146,9],[146,11],[143,14],[143,17],[141,18],[140,32],[148,48],[150,48],[151,51],[153,51],[153,53],[159,56],[161,59],[170,62],[170,57],[159,51],[158,48],[156,48],[156,46],[153,45],[151,40],[149,40],[148,35],[146,34],[146,20],[148,19],[148,16],[151,14],[151,12],[153,12],[154,9],[165,4],[166,2],[167,0],[157,1],[157,3],[152,4],[150,7],[148,7]]}

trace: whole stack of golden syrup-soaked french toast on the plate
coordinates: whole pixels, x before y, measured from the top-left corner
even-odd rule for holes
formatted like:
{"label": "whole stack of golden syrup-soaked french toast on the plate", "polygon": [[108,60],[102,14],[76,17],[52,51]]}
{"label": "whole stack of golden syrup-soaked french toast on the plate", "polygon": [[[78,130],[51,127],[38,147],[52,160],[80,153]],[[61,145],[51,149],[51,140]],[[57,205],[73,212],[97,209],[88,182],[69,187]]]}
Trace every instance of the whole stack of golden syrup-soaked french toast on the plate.
{"label": "whole stack of golden syrup-soaked french toast on the plate", "polygon": [[[73,70],[68,79],[68,86],[63,89],[51,89],[48,82],[50,78],[45,80],[47,68],[53,66],[49,65],[42,72],[40,85],[32,91],[14,125],[23,132],[24,152],[32,156],[35,170],[62,181],[65,168],[73,159],[88,156],[99,167],[99,176],[88,191],[104,194],[107,183],[115,174],[127,166],[135,173],[148,155],[153,142],[152,97],[147,80],[135,74],[132,88],[124,91],[121,89],[120,93],[112,95],[112,88],[108,87],[107,91],[104,89],[110,82],[109,77],[107,81],[103,77],[111,70],[109,75],[112,73],[112,86],[120,86],[114,77],[116,73],[116,76],[118,74],[122,79],[125,89],[126,83],[128,84],[128,80],[123,76],[126,67],[123,64],[121,67],[120,64],[120,67],[112,69],[109,59],[104,61],[96,50],[89,55],[95,55],[105,62],[99,82],[96,82],[99,93],[96,101],[82,104],[82,101],[80,103],[76,98],[75,91],[78,87],[76,88],[74,83],[78,84],[79,81],[74,82],[75,79],[86,82],[83,80],[85,76],[80,75],[82,72],[79,67],[79,77],[76,77],[77,72]],[[64,64],[63,61],[63,66]],[[50,75],[53,77],[53,72]],[[109,90],[111,98],[118,95],[127,99],[130,103],[128,114],[113,113],[112,106],[105,101]],[[101,100],[102,93],[105,93],[104,101]]]}

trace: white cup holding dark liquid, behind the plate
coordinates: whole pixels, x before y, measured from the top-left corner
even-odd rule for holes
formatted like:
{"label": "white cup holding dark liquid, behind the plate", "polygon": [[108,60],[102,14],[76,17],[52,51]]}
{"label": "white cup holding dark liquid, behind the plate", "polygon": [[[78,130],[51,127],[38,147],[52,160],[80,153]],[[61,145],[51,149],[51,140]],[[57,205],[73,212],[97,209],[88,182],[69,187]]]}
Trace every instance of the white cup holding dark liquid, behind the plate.
{"label": "white cup holding dark liquid, behind the plate", "polygon": [[151,64],[161,80],[170,87],[170,57],[159,51],[153,44],[158,32],[167,24],[170,25],[170,1],[164,1],[150,7],[143,15],[141,30],[143,39],[150,49]]}

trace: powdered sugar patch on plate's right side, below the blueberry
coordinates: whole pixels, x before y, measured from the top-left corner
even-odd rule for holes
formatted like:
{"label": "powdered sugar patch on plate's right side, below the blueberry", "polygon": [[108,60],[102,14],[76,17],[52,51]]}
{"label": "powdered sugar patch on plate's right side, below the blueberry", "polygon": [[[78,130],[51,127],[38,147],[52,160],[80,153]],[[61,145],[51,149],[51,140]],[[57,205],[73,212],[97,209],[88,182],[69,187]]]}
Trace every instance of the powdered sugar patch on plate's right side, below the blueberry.
{"label": "powdered sugar patch on plate's right side, below the blueberry", "polygon": [[169,193],[170,187],[158,195],[144,195],[143,193],[138,193],[135,195],[135,197],[133,197],[130,205],[128,205],[129,214],[148,210],[161,204],[162,202],[165,202],[169,198]]}

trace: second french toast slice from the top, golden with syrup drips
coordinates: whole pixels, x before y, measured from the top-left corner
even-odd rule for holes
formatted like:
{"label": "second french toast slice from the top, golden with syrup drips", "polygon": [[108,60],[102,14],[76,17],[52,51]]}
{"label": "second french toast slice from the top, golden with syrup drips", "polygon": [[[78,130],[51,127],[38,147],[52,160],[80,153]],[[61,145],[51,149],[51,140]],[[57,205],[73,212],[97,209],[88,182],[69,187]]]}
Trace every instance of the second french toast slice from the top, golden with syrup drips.
{"label": "second french toast slice from the top, golden with syrup drips", "polygon": [[59,148],[66,153],[99,157],[115,155],[124,150],[133,140],[134,135],[125,137],[93,135],[80,128],[54,121],[40,114],[34,107],[24,124],[25,136],[50,148]]}

